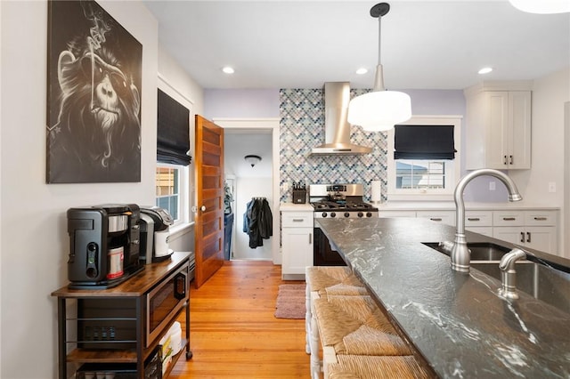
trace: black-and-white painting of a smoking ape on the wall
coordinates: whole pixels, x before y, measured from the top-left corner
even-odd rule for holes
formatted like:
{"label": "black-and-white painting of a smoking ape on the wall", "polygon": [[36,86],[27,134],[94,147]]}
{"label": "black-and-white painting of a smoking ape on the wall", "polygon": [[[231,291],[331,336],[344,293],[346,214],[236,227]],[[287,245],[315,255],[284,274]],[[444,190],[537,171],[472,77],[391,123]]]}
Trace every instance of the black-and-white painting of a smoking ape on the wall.
{"label": "black-and-white painting of a smoking ape on the wall", "polygon": [[142,45],[92,0],[48,28],[46,181],[141,181]]}

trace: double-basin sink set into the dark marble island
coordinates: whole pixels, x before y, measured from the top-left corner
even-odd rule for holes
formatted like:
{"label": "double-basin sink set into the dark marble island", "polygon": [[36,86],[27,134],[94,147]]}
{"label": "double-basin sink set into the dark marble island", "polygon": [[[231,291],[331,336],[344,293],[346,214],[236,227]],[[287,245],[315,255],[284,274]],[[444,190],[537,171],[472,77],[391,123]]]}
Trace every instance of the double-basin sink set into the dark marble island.
{"label": "double-basin sink set into the dark marble island", "polygon": [[[438,246],[438,243],[424,243],[424,245],[449,255]],[[491,242],[468,243],[468,248],[471,251],[471,268],[501,281],[499,262],[510,249]],[[527,255],[527,258],[515,263],[517,291],[530,294],[558,310],[570,313],[570,268],[558,266],[533,255]]]}

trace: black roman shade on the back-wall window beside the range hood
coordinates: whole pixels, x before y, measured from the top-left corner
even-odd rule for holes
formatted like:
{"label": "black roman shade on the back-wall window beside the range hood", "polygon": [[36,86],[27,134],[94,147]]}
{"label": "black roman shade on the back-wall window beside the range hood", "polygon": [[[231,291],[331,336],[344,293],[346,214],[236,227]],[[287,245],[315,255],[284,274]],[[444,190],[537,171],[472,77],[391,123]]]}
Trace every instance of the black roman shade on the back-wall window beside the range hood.
{"label": "black roman shade on the back-wall window beside the range hood", "polygon": [[453,125],[395,125],[394,159],[454,159]]}

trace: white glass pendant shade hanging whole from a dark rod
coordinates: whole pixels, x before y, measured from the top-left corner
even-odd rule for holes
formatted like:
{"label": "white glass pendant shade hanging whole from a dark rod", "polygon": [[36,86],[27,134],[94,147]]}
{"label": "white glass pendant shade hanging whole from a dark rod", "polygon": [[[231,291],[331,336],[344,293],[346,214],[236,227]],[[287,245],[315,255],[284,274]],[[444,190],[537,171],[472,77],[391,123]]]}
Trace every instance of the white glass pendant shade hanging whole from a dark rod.
{"label": "white glass pendant shade hanging whole from a dark rod", "polygon": [[411,99],[407,93],[374,91],[350,101],[348,122],[369,132],[383,132],[411,118]]}

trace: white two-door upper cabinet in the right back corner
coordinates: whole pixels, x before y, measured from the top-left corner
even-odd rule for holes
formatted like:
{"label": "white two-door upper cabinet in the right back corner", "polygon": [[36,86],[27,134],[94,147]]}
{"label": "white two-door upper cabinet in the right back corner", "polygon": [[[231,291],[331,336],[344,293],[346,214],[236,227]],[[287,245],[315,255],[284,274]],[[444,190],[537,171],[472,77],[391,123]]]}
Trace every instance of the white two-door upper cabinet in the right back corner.
{"label": "white two-door upper cabinet in the right back corner", "polygon": [[531,168],[531,81],[484,82],[464,91],[466,169]]}

